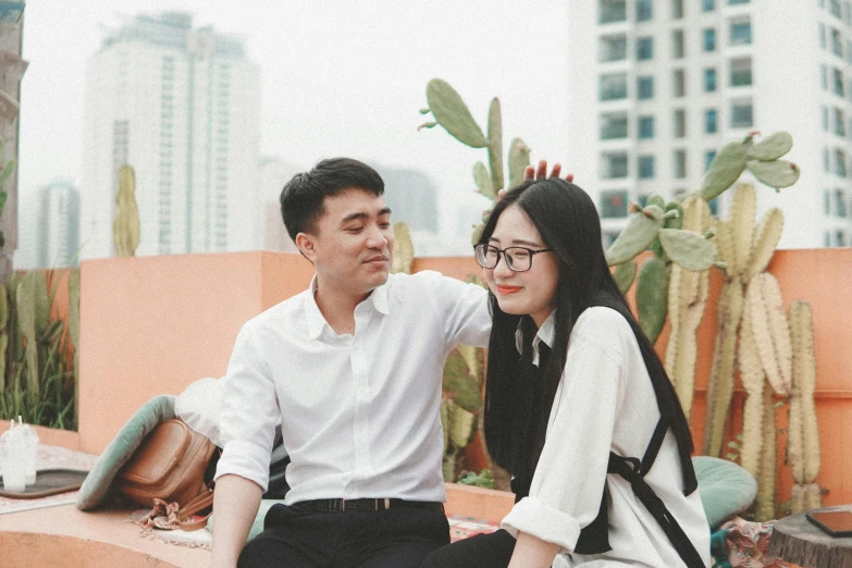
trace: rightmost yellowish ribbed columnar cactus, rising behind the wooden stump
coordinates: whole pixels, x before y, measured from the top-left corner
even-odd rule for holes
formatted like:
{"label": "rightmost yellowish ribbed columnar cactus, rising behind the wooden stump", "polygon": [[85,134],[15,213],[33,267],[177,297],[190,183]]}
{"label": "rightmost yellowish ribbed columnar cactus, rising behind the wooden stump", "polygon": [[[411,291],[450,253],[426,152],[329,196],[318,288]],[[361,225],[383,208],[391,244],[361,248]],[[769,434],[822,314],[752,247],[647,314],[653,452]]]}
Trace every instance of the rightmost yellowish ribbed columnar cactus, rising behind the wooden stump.
{"label": "rightmost yellowish ribbed columnar cactus, rising behind the wooden stump", "polygon": [[814,406],[816,358],[811,306],[797,300],[790,306],[790,343],[792,346],[792,381],[788,456],[793,473],[791,511],[817,509],[822,491],[814,481],[819,472],[819,433]]}

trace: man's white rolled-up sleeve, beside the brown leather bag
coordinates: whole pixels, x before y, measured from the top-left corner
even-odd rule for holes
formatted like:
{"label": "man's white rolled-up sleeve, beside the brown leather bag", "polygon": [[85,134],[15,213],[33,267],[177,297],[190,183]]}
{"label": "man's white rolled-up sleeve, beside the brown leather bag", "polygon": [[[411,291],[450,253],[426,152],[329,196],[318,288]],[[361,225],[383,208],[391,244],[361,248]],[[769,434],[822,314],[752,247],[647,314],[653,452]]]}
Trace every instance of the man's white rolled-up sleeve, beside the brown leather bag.
{"label": "man's white rolled-up sleeve, beside the brown leather bag", "polygon": [[249,324],[237,335],[222,379],[222,457],[215,479],[236,474],[267,491],[269,461],[280,416],[275,386]]}

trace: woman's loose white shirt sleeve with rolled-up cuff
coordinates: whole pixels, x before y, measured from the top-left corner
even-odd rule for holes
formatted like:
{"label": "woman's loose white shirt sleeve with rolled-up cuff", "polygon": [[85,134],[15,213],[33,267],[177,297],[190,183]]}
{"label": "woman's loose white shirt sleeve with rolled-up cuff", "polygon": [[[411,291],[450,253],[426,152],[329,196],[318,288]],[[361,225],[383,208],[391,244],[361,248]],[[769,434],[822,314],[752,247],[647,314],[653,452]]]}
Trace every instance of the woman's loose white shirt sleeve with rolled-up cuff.
{"label": "woman's loose white shirt sleeve with rolled-up cuff", "polygon": [[620,357],[595,343],[571,338],[530,496],[502,522],[565,553],[600,511],[619,402]]}

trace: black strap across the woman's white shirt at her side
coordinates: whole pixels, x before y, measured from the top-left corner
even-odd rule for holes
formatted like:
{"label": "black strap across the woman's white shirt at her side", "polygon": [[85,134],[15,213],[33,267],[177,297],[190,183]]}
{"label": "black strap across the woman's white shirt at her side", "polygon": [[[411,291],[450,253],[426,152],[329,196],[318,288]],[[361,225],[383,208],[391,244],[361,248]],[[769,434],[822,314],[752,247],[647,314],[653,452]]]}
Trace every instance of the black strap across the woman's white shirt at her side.
{"label": "black strap across the woman's white shirt at her side", "polygon": [[663,532],[666,533],[669,542],[671,542],[671,545],[675,546],[678,555],[689,568],[704,568],[704,560],[702,560],[701,555],[695,550],[692,541],[690,541],[687,533],[683,532],[683,529],[680,528],[677,519],[669,513],[666,504],[663,503],[663,499],[660,499],[654,490],[651,489],[651,485],[645,482],[645,474],[654,465],[654,460],[659,453],[667,430],[668,424],[660,418],[656,429],[654,429],[654,434],[651,436],[651,443],[647,445],[641,462],[638,458],[621,457],[618,454],[610,452],[609,466],[606,471],[607,473],[617,473],[630,483],[637,498],[639,498],[640,503],[645,506],[649,513],[651,513],[654,519],[659,523]]}

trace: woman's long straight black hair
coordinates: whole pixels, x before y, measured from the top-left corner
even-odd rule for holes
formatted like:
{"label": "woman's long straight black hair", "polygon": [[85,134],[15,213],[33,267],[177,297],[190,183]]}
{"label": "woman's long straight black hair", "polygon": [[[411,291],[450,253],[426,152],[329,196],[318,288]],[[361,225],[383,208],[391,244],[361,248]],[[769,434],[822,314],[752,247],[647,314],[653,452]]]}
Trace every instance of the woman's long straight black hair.
{"label": "woman's long straight black hair", "polygon": [[[565,369],[571,330],[585,309],[605,306],[618,311],[635,335],[651,375],[659,412],[674,431],[681,464],[690,466],[688,472],[684,467],[684,493],[692,493],[696,483],[690,464],[693,445],[689,423],[659,357],[613,280],[604,257],[601,220],[592,199],[577,185],[557,177],[524,182],[497,202],[485,222],[479,243],[487,244],[499,215],[513,206],[519,207],[539,230],[544,246],[553,251],[559,269],[554,314],[555,337],[547,368],[542,369],[542,405],[518,408],[519,404],[530,404],[531,399],[518,396],[522,362],[519,360],[515,333],[520,325],[523,336],[521,358],[529,363],[535,324],[529,316],[513,316],[501,310],[494,294],[489,293],[493,328],[489,342],[484,431],[492,458],[515,476],[535,470],[544,447],[550,409]],[[518,424],[514,420],[519,416],[532,416],[533,420],[534,435],[532,440],[528,437],[526,444],[519,443],[516,435]]]}

